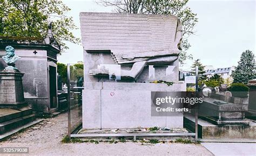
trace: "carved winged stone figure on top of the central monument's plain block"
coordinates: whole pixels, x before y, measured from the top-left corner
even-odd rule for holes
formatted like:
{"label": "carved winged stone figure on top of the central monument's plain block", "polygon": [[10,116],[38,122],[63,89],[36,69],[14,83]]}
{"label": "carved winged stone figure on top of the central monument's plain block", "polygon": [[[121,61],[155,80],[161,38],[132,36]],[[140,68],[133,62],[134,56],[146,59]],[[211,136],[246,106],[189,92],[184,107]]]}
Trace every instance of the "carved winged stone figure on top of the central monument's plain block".
{"label": "carved winged stone figure on top of the central monument's plain block", "polygon": [[[170,15],[132,15],[83,12],[82,43],[89,53],[110,53],[113,63],[132,65],[122,78],[136,79],[146,65],[171,65],[181,50],[182,25]],[[108,76],[104,62],[91,76]]]}

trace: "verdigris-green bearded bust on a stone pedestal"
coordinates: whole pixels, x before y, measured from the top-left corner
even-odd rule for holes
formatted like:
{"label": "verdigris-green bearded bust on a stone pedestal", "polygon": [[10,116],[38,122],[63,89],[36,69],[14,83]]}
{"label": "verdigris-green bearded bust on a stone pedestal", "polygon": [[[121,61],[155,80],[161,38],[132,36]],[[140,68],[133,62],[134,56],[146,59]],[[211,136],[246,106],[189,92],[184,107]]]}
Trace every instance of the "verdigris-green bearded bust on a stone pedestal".
{"label": "verdigris-green bearded bust on a stone pedestal", "polygon": [[8,67],[5,67],[5,69],[6,70],[8,70],[8,69],[18,70],[15,67],[14,62],[21,57],[18,57],[15,55],[15,49],[12,46],[6,46],[5,51],[6,51],[6,55],[2,57],[4,62],[8,65]]}

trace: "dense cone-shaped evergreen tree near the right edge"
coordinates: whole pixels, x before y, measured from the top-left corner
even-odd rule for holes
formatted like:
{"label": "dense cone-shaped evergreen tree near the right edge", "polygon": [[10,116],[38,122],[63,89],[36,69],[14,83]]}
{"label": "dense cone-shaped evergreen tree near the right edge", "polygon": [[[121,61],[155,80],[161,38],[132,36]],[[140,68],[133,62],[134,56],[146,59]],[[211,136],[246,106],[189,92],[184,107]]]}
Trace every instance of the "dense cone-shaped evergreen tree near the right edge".
{"label": "dense cone-shaped evergreen tree near the right edge", "polygon": [[247,84],[248,80],[256,78],[255,72],[253,72],[255,60],[254,54],[250,50],[242,52],[238,66],[232,71],[233,83]]}

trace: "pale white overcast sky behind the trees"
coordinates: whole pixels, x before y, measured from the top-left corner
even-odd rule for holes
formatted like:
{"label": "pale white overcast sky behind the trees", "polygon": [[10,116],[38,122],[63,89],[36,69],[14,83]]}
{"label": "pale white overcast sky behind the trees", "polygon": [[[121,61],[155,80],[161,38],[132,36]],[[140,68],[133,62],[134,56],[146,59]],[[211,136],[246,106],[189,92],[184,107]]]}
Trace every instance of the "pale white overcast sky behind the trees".
{"label": "pale white overcast sky behind the trees", "polygon": [[[69,16],[80,28],[79,12],[112,12],[95,3],[95,0],[63,1],[71,8]],[[189,6],[199,19],[190,36],[192,47],[188,51],[204,65],[229,67],[237,65],[242,51],[252,50],[255,55],[256,10],[255,1],[190,1]],[[73,31],[80,37],[80,30]],[[83,46],[68,43],[69,50],[58,57],[60,63],[77,63],[83,60]],[[187,70],[192,60],[183,69]]]}

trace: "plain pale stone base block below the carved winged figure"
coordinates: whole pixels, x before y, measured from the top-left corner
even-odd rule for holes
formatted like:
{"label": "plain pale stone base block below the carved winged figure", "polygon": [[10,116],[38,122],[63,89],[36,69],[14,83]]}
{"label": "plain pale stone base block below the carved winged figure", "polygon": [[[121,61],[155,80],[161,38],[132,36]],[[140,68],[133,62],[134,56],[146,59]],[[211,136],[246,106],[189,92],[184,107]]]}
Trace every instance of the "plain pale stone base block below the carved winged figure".
{"label": "plain pale stone base block below the carved winged figure", "polygon": [[83,128],[182,128],[182,116],[151,116],[151,91],[185,90],[184,83],[85,83]]}

